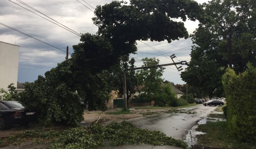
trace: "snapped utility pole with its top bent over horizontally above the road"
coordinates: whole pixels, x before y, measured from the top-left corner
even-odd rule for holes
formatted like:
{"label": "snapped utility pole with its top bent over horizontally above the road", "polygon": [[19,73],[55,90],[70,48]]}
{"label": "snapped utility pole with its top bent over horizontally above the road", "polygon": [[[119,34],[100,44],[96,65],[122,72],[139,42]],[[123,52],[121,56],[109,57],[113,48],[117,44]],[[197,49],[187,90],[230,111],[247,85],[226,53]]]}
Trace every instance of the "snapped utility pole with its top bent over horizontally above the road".
{"label": "snapped utility pole with its top bent over horizontally above the road", "polygon": [[146,67],[136,67],[136,68],[124,69],[124,110],[127,110],[127,99],[126,99],[127,98],[127,93],[126,93],[126,77],[125,77],[125,72],[126,71],[138,70],[138,69],[147,69],[147,68],[157,68],[157,67],[170,66],[170,65],[175,65],[176,66],[178,64],[185,65],[186,62],[187,61],[180,61],[178,63],[169,63],[169,64],[162,64],[162,65],[152,65],[152,66],[146,66]]}

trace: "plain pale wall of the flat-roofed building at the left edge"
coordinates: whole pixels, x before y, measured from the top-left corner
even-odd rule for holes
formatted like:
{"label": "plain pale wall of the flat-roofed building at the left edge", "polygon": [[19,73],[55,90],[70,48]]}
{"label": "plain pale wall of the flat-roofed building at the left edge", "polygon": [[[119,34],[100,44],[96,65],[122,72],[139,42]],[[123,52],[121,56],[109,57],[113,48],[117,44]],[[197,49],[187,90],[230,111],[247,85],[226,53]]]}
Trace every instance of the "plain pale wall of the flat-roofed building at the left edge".
{"label": "plain pale wall of the flat-roofed building at the left edge", "polygon": [[0,41],[0,88],[8,90],[8,85],[14,83],[17,87],[19,46]]}

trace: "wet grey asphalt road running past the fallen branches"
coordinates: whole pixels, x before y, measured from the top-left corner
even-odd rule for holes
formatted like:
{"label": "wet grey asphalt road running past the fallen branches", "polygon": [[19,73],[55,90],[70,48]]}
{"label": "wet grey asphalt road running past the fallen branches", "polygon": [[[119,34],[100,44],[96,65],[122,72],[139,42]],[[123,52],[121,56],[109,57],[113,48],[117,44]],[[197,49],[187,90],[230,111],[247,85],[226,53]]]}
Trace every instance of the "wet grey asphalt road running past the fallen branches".
{"label": "wet grey asphalt road running past the fallen branches", "polygon": [[189,108],[182,108],[181,111],[196,112],[195,114],[188,113],[163,113],[153,116],[144,116],[127,120],[138,128],[147,128],[149,130],[159,130],[166,136],[175,139],[183,140],[196,121],[202,120],[207,114],[214,111],[217,106],[203,106],[202,104]]}

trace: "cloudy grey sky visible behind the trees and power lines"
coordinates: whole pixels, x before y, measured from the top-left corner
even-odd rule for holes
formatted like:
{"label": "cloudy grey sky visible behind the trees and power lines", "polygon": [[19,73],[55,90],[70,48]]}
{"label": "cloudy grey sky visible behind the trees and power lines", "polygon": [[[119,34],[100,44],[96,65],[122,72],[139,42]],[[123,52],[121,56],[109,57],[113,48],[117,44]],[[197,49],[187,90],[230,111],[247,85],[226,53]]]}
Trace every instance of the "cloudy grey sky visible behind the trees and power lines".
{"label": "cloudy grey sky visible behind the trees and power lines", "polygon": [[[69,53],[73,52],[72,45],[79,43],[79,36],[43,19],[42,17],[35,15],[30,11],[27,11],[26,9],[12,3],[11,1],[33,11],[32,9],[21,4],[19,0],[1,0],[0,23],[18,29],[21,32],[24,32],[57,48],[65,50],[65,47],[69,46]],[[112,0],[84,0],[88,4],[86,4],[83,0],[79,1],[87,7],[91,8],[88,4],[96,7],[97,5],[110,3]],[[198,3],[207,2],[207,0],[196,1]],[[94,13],[84,5],[80,4],[77,0],[22,0],[22,2],[30,5],[31,7],[37,9],[38,11],[44,13],[45,15],[78,33],[89,32],[94,34],[97,32],[97,27],[91,20],[91,18],[94,17]],[[91,9],[93,10],[93,8]],[[185,27],[187,28],[189,34],[191,34],[195,28],[197,28],[197,24],[198,21],[193,22],[188,20],[185,22]],[[37,79],[38,75],[44,75],[46,71],[56,67],[57,63],[60,63],[65,59],[64,52],[34,40],[30,37],[27,37],[10,28],[4,27],[3,25],[0,25],[0,41],[20,46],[18,70],[19,82],[33,82]],[[135,58],[135,65],[137,67],[142,65],[142,62],[140,61],[141,59],[145,57],[161,55],[161,52],[171,53],[157,56],[157,58],[160,60],[160,64],[172,63],[168,56],[172,54],[177,56],[177,59],[175,59],[176,62],[179,60],[190,60],[189,54],[191,48],[189,46],[192,45],[191,39],[180,39],[173,41],[170,44],[165,41],[143,42],[155,49],[150,48],[146,44],[138,41],[138,54],[131,55],[131,57]],[[175,51],[177,49],[181,50]],[[178,72],[174,66],[166,67],[165,72],[163,73],[163,77],[165,80],[172,81],[175,84],[184,83],[180,78],[180,72]]]}

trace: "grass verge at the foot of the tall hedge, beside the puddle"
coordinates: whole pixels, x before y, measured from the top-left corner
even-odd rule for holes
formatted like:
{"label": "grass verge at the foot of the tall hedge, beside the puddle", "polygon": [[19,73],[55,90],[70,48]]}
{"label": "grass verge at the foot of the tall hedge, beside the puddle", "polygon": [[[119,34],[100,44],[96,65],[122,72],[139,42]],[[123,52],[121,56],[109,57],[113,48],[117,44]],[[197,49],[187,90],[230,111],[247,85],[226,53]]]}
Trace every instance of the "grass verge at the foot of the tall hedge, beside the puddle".
{"label": "grass verge at the foot of the tall hedge, beside the puddle", "polygon": [[199,125],[197,131],[205,132],[197,136],[199,145],[229,149],[256,149],[256,142],[244,143],[231,136],[228,132],[227,121],[207,122]]}

